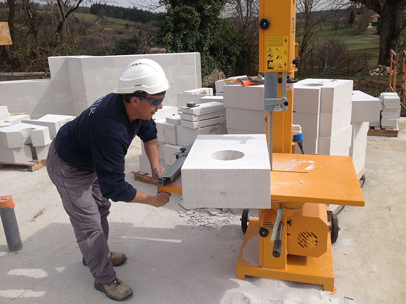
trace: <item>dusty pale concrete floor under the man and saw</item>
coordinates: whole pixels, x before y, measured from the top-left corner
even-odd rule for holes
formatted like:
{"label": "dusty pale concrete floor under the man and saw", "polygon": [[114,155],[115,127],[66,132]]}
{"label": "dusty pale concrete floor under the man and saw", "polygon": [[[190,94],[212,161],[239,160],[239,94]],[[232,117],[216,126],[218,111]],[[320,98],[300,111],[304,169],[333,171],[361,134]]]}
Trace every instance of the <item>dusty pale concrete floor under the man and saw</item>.
{"label": "dusty pale concrete floor under the man and saw", "polygon": [[[405,303],[406,121],[398,137],[368,136],[365,207],[344,207],[332,246],[337,292],[273,279],[235,278],[244,238],[240,216],[218,226],[193,224],[174,195],[161,208],[113,203],[109,245],[128,260],[117,276],[134,291],[127,303]],[[156,186],[135,181],[140,142],[126,159],[126,179],[141,191]],[[8,252],[0,229],[0,303],[112,303],[93,288],[69,218],[45,168],[0,170],[0,196],[11,195],[23,242]],[[215,216],[212,216],[215,217]]]}

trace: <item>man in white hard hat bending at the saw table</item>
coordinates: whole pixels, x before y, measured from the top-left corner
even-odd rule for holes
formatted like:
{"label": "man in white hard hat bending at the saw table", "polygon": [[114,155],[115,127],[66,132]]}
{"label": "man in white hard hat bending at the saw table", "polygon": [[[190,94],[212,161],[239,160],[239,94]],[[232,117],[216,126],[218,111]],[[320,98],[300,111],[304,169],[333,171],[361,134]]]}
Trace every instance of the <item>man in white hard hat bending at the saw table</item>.
{"label": "man in white hard hat bending at the saw table", "polygon": [[140,59],[122,72],[118,88],[101,97],[72,122],[60,128],[51,143],[47,170],[70,217],[83,263],[94,277],[95,289],[117,301],[132,296],[114,266],[124,253],[111,252],[107,244],[110,201],[160,207],[171,194],[150,196],[124,180],[124,157],[132,139],[144,142],[153,177],[165,171],[159,164],[154,113],[162,108],[170,86],[158,63]]}

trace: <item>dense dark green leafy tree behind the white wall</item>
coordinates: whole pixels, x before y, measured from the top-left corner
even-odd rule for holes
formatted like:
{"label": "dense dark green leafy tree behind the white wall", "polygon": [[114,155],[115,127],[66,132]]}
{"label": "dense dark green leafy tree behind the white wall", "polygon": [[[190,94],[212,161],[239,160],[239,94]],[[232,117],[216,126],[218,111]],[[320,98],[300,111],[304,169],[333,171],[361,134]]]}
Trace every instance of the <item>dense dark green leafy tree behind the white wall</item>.
{"label": "dense dark green leafy tree behind the white wall", "polygon": [[219,18],[223,0],[161,0],[166,12],[158,14],[158,42],[170,53],[199,52],[201,74],[216,67],[228,75],[235,72],[242,38]]}

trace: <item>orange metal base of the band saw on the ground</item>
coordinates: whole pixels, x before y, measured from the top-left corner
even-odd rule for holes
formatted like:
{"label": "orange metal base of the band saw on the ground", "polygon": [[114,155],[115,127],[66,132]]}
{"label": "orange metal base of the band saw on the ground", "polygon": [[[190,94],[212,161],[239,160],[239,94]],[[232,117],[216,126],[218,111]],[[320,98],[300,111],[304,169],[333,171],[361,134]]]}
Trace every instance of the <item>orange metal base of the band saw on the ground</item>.
{"label": "orange metal base of the band saw on the ground", "polygon": [[[245,276],[278,279],[301,283],[323,285],[323,290],[334,288],[334,267],[331,250],[330,234],[328,234],[327,251],[319,257],[287,256],[285,269],[267,269],[259,266],[259,220],[250,218],[240,255],[235,265],[238,279]],[[272,254],[272,252],[264,253]],[[256,260],[255,260],[256,257]]]}

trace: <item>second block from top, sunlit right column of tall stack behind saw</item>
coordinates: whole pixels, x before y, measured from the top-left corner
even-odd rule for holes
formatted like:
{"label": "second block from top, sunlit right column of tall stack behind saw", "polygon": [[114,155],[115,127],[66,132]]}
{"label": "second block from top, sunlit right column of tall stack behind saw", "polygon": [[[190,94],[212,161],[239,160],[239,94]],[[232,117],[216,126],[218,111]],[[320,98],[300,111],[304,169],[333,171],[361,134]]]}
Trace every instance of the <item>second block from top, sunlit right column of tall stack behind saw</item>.
{"label": "second block from top, sunlit right column of tall stack behind saw", "polygon": [[320,113],[319,136],[332,137],[351,125],[352,104],[330,112]]}

